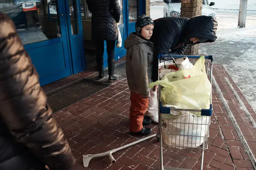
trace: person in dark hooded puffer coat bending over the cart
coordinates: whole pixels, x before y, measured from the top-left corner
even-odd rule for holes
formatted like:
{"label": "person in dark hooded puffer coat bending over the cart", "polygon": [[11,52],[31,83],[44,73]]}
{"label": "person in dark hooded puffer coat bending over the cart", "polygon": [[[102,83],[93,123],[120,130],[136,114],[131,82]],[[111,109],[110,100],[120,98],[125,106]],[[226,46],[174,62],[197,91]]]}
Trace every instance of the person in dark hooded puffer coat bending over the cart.
{"label": "person in dark hooded puffer coat bending over the cart", "polygon": [[164,17],[154,20],[154,34],[150,41],[154,44],[154,81],[158,80],[158,55],[182,55],[188,45],[212,43],[217,39],[217,21],[208,16],[194,18]]}

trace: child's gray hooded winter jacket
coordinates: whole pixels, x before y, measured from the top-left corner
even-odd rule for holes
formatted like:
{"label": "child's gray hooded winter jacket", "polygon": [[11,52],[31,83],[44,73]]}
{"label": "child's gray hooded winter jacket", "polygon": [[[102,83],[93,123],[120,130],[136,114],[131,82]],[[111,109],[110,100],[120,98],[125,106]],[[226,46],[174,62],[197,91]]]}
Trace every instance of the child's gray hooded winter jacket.
{"label": "child's gray hooded winter jacket", "polygon": [[124,41],[126,51],[126,77],[131,92],[149,98],[149,83],[152,83],[154,46],[135,33]]}

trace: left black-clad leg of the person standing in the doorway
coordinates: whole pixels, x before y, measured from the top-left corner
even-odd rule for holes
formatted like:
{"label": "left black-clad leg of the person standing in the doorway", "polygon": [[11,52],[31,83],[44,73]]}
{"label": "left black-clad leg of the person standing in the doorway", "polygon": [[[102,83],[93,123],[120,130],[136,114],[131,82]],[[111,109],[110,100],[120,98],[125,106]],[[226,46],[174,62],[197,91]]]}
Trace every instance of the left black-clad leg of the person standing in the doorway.
{"label": "left black-clad leg of the person standing in the doorway", "polygon": [[96,63],[99,71],[99,79],[104,77],[103,71],[104,40],[96,40]]}

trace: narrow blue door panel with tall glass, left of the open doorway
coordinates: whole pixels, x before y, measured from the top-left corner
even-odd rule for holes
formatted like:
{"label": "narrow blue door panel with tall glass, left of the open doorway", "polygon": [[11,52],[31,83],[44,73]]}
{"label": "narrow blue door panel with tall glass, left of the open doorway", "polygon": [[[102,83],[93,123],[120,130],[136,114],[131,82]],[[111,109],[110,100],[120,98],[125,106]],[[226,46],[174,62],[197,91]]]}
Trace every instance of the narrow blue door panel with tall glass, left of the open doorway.
{"label": "narrow blue door panel with tall glass, left of the open doorway", "polygon": [[67,31],[74,74],[86,69],[81,12],[84,12],[84,6],[81,6],[80,0],[66,0]]}

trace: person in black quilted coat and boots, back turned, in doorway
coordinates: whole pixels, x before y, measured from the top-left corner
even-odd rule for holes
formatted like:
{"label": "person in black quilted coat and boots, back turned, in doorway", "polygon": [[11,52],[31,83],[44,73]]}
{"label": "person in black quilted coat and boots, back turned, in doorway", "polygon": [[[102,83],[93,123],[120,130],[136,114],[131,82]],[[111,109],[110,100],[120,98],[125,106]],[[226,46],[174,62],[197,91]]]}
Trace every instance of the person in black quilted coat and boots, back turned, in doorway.
{"label": "person in black quilted coat and boots, back turned, in doorway", "polygon": [[92,13],[92,40],[96,45],[96,62],[99,79],[104,77],[103,54],[104,40],[107,44],[109,81],[115,81],[115,45],[118,39],[117,23],[120,20],[121,9],[118,0],[87,0]]}

